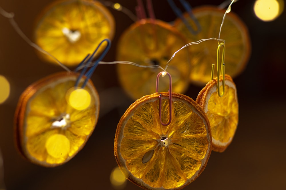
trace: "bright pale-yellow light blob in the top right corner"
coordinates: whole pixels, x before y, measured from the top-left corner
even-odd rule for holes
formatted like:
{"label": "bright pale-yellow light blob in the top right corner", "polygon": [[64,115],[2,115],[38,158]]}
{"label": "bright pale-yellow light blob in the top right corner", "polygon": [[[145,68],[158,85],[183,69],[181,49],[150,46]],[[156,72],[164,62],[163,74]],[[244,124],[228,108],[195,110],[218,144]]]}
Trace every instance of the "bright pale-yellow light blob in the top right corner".
{"label": "bright pale-yellow light blob in the top right corner", "polygon": [[273,21],[279,16],[277,0],[256,0],[253,9],[255,15],[263,21]]}

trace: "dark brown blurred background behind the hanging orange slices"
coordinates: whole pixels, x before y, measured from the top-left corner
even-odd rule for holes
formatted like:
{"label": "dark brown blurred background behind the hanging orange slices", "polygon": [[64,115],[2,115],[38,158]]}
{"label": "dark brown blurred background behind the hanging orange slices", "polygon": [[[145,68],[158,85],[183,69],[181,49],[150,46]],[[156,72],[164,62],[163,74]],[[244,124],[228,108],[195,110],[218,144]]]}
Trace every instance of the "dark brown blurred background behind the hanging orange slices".
{"label": "dark brown blurred background behind the hanging orange slices", "polygon": [[[0,0],[0,5],[15,13],[15,21],[31,39],[35,18],[51,2]],[[135,12],[136,1],[113,2]],[[189,2],[193,7],[222,3],[218,0]],[[153,3],[158,19],[169,22],[176,18],[166,1]],[[254,1],[240,0],[232,6],[232,11],[246,23],[252,42],[249,63],[234,79],[239,98],[237,133],[224,153],[212,152],[206,169],[184,189],[286,189],[286,14],[284,11],[275,21],[263,22],[254,15],[253,4]],[[104,61],[115,61],[118,38],[133,23],[124,13],[110,11],[115,17],[116,34]],[[100,118],[84,149],[56,168],[29,163],[16,151],[13,141],[18,98],[34,81],[63,69],[39,59],[35,50],[0,15],[0,75],[7,77],[11,84],[10,97],[0,105],[0,147],[7,190],[114,189],[110,173],[117,166],[113,152],[115,130],[120,117],[133,102],[122,92],[115,67],[100,65],[92,76],[100,93]],[[190,85],[185,94],[195,99],[200,89]],[[124,189],[141,188],[128,181]]]}

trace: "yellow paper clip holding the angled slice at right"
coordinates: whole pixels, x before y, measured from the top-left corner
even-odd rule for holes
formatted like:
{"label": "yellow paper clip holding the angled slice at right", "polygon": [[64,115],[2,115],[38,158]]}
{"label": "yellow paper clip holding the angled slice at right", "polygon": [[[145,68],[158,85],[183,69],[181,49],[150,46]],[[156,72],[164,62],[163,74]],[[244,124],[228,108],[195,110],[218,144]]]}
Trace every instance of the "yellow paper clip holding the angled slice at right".
{"label": "yellow paper clip holding the angled slice at right", "polygon": [[[222,77],[223,77],[223,93],[220,93],[220,89],[219,89],[219,81],[220,81],[220,75],[221,75],[221,71],[220,71],[220,67],[219,67],[219,57],[220,57],[220,50],[221,47],[223,48],[223,53],[222,53],[222,59],[221,59],[221,71],[222,71]],[[219,46],[217,47],[217,93],[219,95],[219,97],[223,97],[224,93],[225,93],[225,43],[219,43]],[[215,68],[215,64],[212,64],[212,71],[211,71],[211,80],[213,80],[214,77],[214,69]]]}

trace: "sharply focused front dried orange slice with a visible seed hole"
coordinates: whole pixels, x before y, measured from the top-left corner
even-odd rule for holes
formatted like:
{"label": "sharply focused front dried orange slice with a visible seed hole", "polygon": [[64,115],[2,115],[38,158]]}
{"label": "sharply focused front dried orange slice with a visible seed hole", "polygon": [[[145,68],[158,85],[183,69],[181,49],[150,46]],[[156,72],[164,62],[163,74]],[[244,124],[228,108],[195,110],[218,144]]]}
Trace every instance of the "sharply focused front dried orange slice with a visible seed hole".
{"label": "sharply focused front dried orange slice with a visible seed hole", "polygon": [[[169,121],[169,93],[162,95],[162,122]],[[163,126],[159,93],[135,101],[121,117],[115,135],[116,161],[143,189],[182,189],[204,170],[211,153],[209,121],[190,97],[172,93],[172,120]]]}

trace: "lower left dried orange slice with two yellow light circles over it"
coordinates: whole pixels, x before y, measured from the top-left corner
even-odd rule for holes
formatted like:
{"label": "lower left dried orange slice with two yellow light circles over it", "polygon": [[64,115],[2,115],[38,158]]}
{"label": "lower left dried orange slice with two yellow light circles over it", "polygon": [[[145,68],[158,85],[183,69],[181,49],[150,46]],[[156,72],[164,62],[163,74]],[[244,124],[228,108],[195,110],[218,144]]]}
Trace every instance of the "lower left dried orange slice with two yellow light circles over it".
{"label": "lower left dried orange slice with two yellow light circles over it", "polygon": [[[15,137],[20,153],[29,161],[45,167],[66,163],[92,134],[99,96],[91,80],[83,89],[75,89],[78,76],[67,72],[49,75],[22,93],[15,113]],[[81,78],[80,85],[83,81]],[[86,93],[79,96],[79,90]]]}

